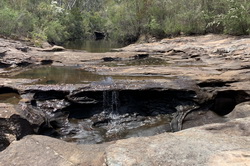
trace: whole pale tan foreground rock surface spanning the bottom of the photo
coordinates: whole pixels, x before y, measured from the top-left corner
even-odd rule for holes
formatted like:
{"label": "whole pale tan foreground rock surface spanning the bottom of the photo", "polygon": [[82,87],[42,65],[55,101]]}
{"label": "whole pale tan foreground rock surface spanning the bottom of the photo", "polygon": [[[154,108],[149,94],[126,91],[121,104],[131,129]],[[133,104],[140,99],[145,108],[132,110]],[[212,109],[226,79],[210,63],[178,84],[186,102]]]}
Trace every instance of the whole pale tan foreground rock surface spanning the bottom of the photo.
{"label": "whole pale tan foreground rock surface spanning the bottom of the photo", "polygon": [[0,164],[248,165],[249,122],[249,118],[237,119],[176,133],[129,138],[101,145],[76,145],[44,136],[27,136],[13,142],[0,153]]}

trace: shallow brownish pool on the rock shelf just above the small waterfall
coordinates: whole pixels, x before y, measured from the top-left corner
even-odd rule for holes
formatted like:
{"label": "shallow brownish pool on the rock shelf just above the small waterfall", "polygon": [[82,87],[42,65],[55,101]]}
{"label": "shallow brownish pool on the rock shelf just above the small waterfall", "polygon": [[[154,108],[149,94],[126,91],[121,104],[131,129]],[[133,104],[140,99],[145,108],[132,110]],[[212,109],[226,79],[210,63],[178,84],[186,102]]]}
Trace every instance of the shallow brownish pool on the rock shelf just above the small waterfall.
{"label": "shallow brownish pool on the rock shelf just above the small waterfall", "polygon": [[[164,76],[99,75],[77,67],[46,66],[24,71],[13,78],[38,79],[35,84],[84,84],[109,85],[114,80],[167,79]],[[114,80],[113,80],[114,79]],[[169,78],[168,78],[169,79]]]}

